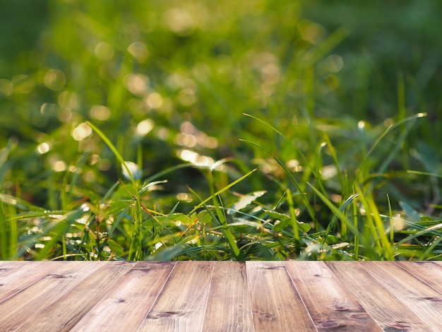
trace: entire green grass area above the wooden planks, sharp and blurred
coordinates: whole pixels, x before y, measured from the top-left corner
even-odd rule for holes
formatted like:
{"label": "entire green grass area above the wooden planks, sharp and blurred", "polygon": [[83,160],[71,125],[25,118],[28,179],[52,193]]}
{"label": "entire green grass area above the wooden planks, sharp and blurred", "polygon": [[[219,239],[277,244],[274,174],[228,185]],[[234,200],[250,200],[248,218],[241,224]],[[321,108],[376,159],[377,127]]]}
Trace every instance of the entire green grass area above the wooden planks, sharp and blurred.
{"label": "entire green grass area above the wooden planks, sharp and blurred", "polygon": [[441,11],[1,1],[0,259],[440,259]]}

